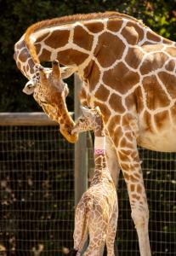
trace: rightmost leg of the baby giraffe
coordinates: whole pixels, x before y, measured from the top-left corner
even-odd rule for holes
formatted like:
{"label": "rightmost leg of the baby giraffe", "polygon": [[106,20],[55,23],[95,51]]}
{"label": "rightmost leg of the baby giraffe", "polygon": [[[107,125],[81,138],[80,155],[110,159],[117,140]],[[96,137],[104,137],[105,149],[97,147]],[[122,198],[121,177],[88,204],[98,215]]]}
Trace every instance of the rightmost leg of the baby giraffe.
{"label": "rightmost leg of the baby giraffe", "polygon": [[107,246],[107,256],[114,256],[114,241],[116,238],[116,227],[118,218],[118,205],[116,203],[114,212],[112,213],[110,222],[108,224],[107,236],[106,236],[106,246]]}

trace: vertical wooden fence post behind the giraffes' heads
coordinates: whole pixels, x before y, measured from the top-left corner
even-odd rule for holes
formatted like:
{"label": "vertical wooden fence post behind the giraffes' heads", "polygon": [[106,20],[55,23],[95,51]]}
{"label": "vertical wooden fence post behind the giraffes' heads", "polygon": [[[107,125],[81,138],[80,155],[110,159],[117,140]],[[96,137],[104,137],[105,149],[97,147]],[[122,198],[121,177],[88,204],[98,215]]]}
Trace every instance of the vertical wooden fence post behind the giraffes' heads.
{"label": "vertical wooden fence post behind the giraffes' heads", "polygon": [[[74,102],[75,102],[75,119],[80,116],[80,103],[78,93],[81,89],[82,81],[77,74],[74,77]],[[88,149],[87,149],[86,132],[80,133],[79,139],[75,144],[75,206],[81,199],[83,192],[88,189]]]}

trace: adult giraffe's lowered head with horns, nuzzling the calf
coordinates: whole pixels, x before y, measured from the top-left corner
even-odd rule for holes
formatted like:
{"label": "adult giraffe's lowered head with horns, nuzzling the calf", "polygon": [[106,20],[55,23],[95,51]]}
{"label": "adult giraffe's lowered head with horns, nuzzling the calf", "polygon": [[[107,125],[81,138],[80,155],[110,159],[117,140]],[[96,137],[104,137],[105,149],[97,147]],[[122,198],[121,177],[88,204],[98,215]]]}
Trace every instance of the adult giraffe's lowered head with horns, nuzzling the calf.
{"label": "adult giraffe's lowered head with horns, nuzzling the calf", "polygon": [[48,73],[41,65],[39,69],[39,83],[35,85],[33,96],[37,103],[48,114],[49,118],[60,124],[60,132],[70,142],[77,142],[77,135],[71,134],[74,122],[65,104],[68,95],[67,84],[61,79],[58,61],[53,61],[52,70]]}

